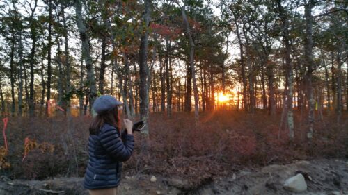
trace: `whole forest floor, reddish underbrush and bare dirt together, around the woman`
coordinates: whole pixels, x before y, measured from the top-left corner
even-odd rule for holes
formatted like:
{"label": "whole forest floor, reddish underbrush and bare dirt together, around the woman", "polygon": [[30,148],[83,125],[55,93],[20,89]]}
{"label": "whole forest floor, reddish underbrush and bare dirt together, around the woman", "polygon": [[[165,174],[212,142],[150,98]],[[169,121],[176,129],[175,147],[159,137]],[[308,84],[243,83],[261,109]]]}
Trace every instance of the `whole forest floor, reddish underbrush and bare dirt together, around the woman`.
{"label": "whole forest floor, reddish underbrush and bare dirt together, around the woman", "polygon": [[[150,147],[135,134],[119,194],[291,194],[283,183],[297,171],[313,178],[304,194],[348,194],[348,112],[339,120],[316,113],[310,142],[303,113],[294,112],[294,140],[280,126],[281,110],[274,117],[262,110],[205,112],[197,126],[193,113],[152,114]],[[10,167],[0,169],[0,194],[87,194],[81,180],[89,123],[90,117],[9,117],[3,161]],[[23,160],[26,138],[35,144]]]}

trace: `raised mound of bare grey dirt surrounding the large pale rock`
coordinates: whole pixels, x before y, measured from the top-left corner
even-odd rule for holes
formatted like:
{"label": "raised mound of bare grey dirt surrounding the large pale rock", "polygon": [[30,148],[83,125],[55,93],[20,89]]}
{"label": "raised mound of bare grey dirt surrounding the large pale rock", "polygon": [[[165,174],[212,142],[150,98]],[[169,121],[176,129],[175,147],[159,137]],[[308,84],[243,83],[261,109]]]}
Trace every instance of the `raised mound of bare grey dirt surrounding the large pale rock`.
{"label": "raised mound of bare grey dirt surrounding the large pale rock", "polygon": [[[306,192],[289,192],[283,187],[287,178],[301,173],[306,179]],[[348,194],[348,162],[343,160],[299,161],[286,165],[270,165],[257,172],[240,171],[197,191],[207,194]]]}

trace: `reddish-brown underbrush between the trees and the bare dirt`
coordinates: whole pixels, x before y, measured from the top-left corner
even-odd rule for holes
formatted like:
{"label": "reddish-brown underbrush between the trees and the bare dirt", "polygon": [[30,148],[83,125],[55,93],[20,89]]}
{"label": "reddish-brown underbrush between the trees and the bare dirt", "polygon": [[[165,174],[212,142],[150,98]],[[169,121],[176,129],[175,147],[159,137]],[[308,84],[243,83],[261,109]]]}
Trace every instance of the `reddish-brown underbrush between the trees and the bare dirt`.
{"label": "reddish-brown underbrush between the trees and the bare dirt", "polygon": [[[193,186],[209,183],[242,167],[290,163],[312,158],[348,158],[348,115],[338,124],[333,114],[316,119],[313,140],[306,139],[306,117],[295,112],[295,137],[275,117],[257,110],[254,115],[235,110],[200,113],[175,112],[171,117],[150,115],[150,139],[135,133],[136,148],[125,163],[127,174],[150,173],[182,178]],[[136,119],[135,119],[136,120]],[[10,163],[0,175],[8,178],[44,179],[84,176],[88,162],[90,117],[9,117],[6,137]],[[33,148],[24,158],[24,139],[48,143],[53,151]],[[3,146],[3,139],[0,146]]]}

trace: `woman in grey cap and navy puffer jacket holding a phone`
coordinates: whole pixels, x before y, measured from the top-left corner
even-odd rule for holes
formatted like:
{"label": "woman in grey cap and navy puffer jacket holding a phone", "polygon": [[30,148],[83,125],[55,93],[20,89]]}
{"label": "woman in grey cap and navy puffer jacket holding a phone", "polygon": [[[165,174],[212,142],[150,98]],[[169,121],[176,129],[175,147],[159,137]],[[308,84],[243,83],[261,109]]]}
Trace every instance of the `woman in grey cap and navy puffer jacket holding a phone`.
{"label": "woman in grey cap and navy puffer jacket holding a phone", "polygon": [[[89,127],[88,165],[84,187],[90,195],[115,195],[120,184],[122,162],[128,160],[134,148],[133,123],[124,119],[127,134],[120,135],[118,106],[113,96],[103,95],[93,103],[97,116]],[[121,139],[122,138],[122,139]]]}

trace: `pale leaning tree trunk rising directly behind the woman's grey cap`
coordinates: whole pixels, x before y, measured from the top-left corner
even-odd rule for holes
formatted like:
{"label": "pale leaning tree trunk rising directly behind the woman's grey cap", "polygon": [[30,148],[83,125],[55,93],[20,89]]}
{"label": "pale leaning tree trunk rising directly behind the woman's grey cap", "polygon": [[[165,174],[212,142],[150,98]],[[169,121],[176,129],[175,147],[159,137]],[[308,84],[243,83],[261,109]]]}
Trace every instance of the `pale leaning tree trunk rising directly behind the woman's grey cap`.
{"label": "pale leaning tree trunk rising directly behind the woman's grey cap", "polygon": [[95,74],[92,64],[92,58],[90,58],[90,46],[88,42],[88,33],[86,26],[84,25],[84,20],[82,19],[82,5],[80,0],[74,0],[75,12],[76,12],[76,22],[79,28],[80,39],[82,42],[82,49],[84,51],[85,65],[87,70],[87,83],[90,87],[90,94],[88,96],[90,103],[90,112],[92,111],[92,105],[97,97],[97,87],[95,87]]}

